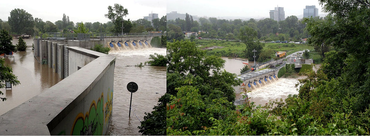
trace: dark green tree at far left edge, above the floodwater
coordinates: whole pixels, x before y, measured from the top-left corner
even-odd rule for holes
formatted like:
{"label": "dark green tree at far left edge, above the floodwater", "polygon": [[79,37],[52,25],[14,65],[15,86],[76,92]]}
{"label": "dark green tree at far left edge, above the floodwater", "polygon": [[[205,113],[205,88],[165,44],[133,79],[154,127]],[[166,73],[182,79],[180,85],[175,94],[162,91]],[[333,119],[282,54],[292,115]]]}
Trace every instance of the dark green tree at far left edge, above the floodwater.
{"label": "dark green tree at far left edge, above the floodwater", "polygon": [[0,32],[0,54],[7,54],[15,50],[16,46],[11,42],[12,39],[5,29]]}

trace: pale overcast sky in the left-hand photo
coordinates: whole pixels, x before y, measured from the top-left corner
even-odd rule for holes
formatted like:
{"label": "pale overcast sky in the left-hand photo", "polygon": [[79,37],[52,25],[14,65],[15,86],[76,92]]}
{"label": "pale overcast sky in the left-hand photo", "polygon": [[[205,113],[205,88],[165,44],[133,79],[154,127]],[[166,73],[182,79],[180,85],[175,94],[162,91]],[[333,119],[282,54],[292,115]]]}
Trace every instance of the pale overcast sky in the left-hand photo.
{"label": "pale overcast sky in the left-hand photo", "polygon": [[62,20],[64,13],[74,23],[106,23],[110,20],[104,14],[108,13],[108,6],[115,3],[127,8],[125,20],[138,20],[152,12],[159,18],[166,15],[166,0],[1,0],[0,19],[7,21],[10,11],[19,8],[44,22]]}

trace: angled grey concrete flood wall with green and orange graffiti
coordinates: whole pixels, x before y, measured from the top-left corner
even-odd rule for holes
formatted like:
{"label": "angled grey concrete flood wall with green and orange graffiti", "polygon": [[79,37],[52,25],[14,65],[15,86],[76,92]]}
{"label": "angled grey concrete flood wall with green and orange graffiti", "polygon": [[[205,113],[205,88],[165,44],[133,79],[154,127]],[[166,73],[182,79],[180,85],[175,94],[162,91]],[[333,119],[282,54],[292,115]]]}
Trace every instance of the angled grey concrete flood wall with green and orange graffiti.
{"label": "angled grey concrete flood wall with green and orange graffiti", "polygon": [[1,115],[1,135],[106,135],[116,58],[68,41],[34,39],[34,47],[63,80]]}

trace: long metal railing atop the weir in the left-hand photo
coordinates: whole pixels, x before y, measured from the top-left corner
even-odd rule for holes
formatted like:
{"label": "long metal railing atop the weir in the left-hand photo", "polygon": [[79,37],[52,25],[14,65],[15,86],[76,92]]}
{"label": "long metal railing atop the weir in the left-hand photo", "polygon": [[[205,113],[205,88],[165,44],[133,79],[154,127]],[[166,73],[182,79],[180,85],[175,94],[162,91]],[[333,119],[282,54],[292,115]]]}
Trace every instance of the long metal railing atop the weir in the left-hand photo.
{"label": "long metal railing atop the weir in the left-hand photo", "polygon": [[102,40],[102,38],[112,37],[145,37],[145,36],[162,36],[162,33],[142,32],[142,33],[60,33],[60,32],[48,32],[41,34],[34,34],[35,38],[47,39],[47,40],[78,40],[78,41],[90,41],[90,40]]}

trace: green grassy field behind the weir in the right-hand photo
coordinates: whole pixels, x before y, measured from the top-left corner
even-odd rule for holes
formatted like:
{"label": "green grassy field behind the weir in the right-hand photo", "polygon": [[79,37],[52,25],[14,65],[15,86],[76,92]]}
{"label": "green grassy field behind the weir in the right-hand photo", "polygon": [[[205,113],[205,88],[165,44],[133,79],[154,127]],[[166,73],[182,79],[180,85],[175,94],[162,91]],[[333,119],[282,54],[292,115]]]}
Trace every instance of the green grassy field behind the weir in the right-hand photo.
{"label": "green grassy field behind the weir in the right-hand photo", "polygon": [[[195,39],[195,43],[198,45],[198,49],[207,50],[209,55],[218,54],[224,57],[245,58],[246,45],[243,42]],[[265,43],[262,52],[268,52],[270,54],[269,59],[271,59],[275,58],[275,52],[286,52],[286,55],[290,55],[304,49],[313,50],[313,46],[295,43]],[[321,63],[321,57],[317,52],[311,51],[310,56],[313,57],[315,63]]]}

